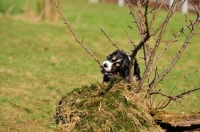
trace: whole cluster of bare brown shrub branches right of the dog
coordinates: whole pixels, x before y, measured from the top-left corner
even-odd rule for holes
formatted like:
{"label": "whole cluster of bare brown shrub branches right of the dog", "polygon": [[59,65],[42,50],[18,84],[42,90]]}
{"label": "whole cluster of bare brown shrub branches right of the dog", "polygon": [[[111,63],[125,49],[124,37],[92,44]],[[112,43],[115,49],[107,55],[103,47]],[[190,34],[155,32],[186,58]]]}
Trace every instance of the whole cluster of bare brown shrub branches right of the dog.
{"label": "whole cluster of bare brown shrub branches right of the dog", "polygon": [[[133,18],[133,23],[135,24],[135,27],[137,28],[137,33],[141,36],[141,41],[138,45],[134,45],[134,50],[132,51],[131,54],[131,64],[130,64],[130,71],[129,71],[129,82],[130,84],[132,83],[133,80],[133,72],[134,72],[134,62],[135,62],[135,56],[137,52],[140,49],[143,49],[143,55],[144,55],[144,62],[145,62],[145,71],[142,75],[142,79],[139,81],[137,88],[135,89],[136,93],[141,92],[142,88],[144,87],[144,82],[148,82],[148,90],[147,90],[147,96],[146,98],[149,99],[150,102],[150,107],[153,105],[153,96],[154,95],[161,95],[167,98],[161,105],[157,107],[157,109],[162,109],[165,108],[171,100],[176,100],[179,98],[182,98],[184,95],[187,95],[191,92],[200,90],[200,88],[195,88],[192,90],[189,90],[187,92],[183,92],[177,96],[172,96],[171,93],[173,92],[173,89],[170,94],[165,94],[162,93],[160,90],[155,92],[156,86],[162,81],[162,80],[169,80],[169,79],[174,79],[174,78],[182,78],[182,77],[187,77],[190,74],[196,73],[189,73],[182,75],[180,77],[169,77],[165,78],[166,75],[172,70],[172,68],[175,66],[185,49],[187,48],[188,44],[190,43],[191,37],[195,34],[199,34],[199,32],[195,32],[195,29],[197,25],[200,22],[200,4],[199,5],[194,5],[192,3],[192,0],[190,2],[192,3],[192,6],[195,8],[195,11],[197,13],[196,19],[195,20],[188,20],[187,16],[185,15],[186,19],[186,24],[185,26],[181,27],[180,30],[176,33],[172,29],[172,35],[173,37],[169,41],[164,41],[163,36],[164,33],[166,32],[167,26],[169,24],[170,19],[172,19],[172,16],[174,15],[175,11],[183,5],[185,0],[180,2],[179,0],[174,0],[172,3],[172,6],[168,8],[165,6],[164,0],[156,1],[156,6],[152,10],[148,11],[148,3],[149,1],[146,1],[144,11],[142,10],[142,5],[140,3],[140,0],[137,1],[137,7],[133,8],[132,5],[129,3],[127,0],[127,5],[130,9],[130,15]],[[167,10],[167,15],[164,19],[164,21],[160,25],[156,25],[157,28],[153,29],[153,25],[155,24],[155,21],[158,17],[158,14],[160,13],[161,8],[164,7]],[[151,20],[149,20],[149,15],[152,15]],[[148,17],[147,17],[148,16]],[[133,28],[131,28],[133,29]],[[135,29],[133,29],[135,31]],[[127,33],[127,32],[126,32]],[[130,36],[127,33],[127,36],[129,40],[132,42]],[[155,44],[153,48],[150,50],[150,47],[148,45],[148,41],[150,38],[155,36]],[[172,45],[172,43],[177,42],[178,38],[180,36],[184,36],[185,40],[180,47],[180,49],[177,49],[177,54],[175,56],[172,56],[172,61],[170,65],[166,68],[163,67],[163,72],[158,73],[157,72],[157,67],[155,70],[154,78],[150,80],[150,74],[154,69],[155,64],[158,62],[160,58],[164,55],[164,53],[168,50],[168,48]],[[161,50],[161,52],[158,54],[158,48],[160,47],[160,44],[162,42],[166,42],[166,46]]]}

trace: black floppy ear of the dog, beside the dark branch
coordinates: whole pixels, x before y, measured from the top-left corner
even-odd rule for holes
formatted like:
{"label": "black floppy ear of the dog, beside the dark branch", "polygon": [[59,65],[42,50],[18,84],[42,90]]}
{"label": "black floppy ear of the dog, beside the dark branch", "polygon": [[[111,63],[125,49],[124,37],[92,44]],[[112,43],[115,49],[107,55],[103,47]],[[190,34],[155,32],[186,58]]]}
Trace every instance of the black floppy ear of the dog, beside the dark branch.
{"label": "black floppy ear of the dog, beside the dark branch", "polygon": [[120,67],[120,74],[124,78],[129,75],[129,64],[130,64],[129,58],[127,55],[124,54],[121,67]]}

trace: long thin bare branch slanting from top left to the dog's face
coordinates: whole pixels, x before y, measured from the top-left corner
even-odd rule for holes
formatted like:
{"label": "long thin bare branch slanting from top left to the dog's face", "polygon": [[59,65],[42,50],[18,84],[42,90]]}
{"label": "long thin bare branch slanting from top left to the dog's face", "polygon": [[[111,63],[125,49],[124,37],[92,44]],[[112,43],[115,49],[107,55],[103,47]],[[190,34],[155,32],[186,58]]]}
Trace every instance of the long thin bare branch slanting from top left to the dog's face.
{"label": "long thin bare branch slanting from top left to the dog's face", "polygon": [[71,32],[72,35],[74,36],[76,42],[78,42],[78,43],[81,45],[81,47],[82,47],[83,49],[85,49],[85,51],[88,52],[88,53],[94,58],[94,60],[99,64],[99,66],[101,67],[101,63],[100,63],[100,61],[98,60],[98,58],[95,56],[95,54],[92,53],[89,49],[87,49],[87,48],[85,47],[85,45],[83,44],[84,38],[82,39],[82,41],[80,41],[80,40],[77,38],[77,36],[76,36],[76,34],[74,33],[74,31],[72,30],[71,25],[70,25],[70,24],[66,21],[66,19],[64,18],[63,14],[62,14],[62,12],[60,11],[60,8],[59,8],[59,2],[58,2],[57,4],[56,4],[55,0],[52,0],[52,2],[54,3],[54,5],[55,5],[55,7],[56,7],[56,9],[57,9],[57,11],[58,11],[58,13],[59,13],[60,16],[62,17],[64,23],[67,25],[68,29],[70,30],[70,32]]}

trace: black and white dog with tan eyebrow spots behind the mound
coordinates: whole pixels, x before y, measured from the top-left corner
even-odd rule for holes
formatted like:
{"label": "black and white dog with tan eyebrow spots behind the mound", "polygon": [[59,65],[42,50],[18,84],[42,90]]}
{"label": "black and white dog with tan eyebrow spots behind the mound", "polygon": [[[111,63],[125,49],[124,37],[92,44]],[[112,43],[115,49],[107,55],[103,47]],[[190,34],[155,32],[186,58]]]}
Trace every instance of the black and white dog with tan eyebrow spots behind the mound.
{"label": "black and white dog with tan eyebrow spots behind the mound", "polygon": [[[108,82],[115,75],[126,78],[129,76],[129,65],[131,57],[124,51],[116,50],[109,56],[107,60],[103,62],[101,73],[104,74],[103,81]],[[134,65],[134,77],[136,80],[140,80],[140,68],[135,59]]]}

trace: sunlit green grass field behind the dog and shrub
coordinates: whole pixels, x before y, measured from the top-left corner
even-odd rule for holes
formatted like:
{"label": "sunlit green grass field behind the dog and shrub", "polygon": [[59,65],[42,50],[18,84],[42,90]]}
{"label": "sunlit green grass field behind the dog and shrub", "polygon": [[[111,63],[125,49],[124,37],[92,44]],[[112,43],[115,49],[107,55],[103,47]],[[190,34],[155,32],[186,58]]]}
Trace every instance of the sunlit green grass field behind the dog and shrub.
{"label": "sunlit green grass field behind the dog and shrub", "polygon": [[[125,30],[135,43],[140,41],[137,33],[128,28],[133,23],[127,7],[105,3],[93,5],[78,0],[62,0],[60,5],[78,38],[84,37],[85,46],[101,62],[116,48],[100,28],[125,51],[133,48]],[[76,43],[63,21],[37,21],[34,15],[25,14],[27,6],[30,5],[25,0],[0,2],[0,132],[54,131],[55,109],[61,97],[81,85],[102,82],[99,65]],[[32,2],[30,7],[34,11],[35,3]],[[160,12],[155,25],[159,25],[165,14],[164,10]],[[192,13],[188,14],[188,18],[194,17]],[[169,23],[165,39],[173,37],[171,29],[177,32],[184,23],[185,17],[177,12]],[[200,26],[197,32],[200,32]],[[178,52],[184,38],[180,37],[157,63],[159,72],[172,61],[171,56]],[[152,38],[150,44],[154,42]],[[198,71],[199,48],[200,37],[197,34],[167,77]],[[140,52],[137,58],[142,57]],[[143,60],[139,59],[139,63],[143,72]],[[158,89],[170,93],[176,86],[173,93],[176,95],[194,86],[199,87],[199,78],[198,72],[187,78],[163,81]],[[156,102],[161,99],[157,97]],[[165,110],[200,112],[200,91],[186,96],[181,103],[172,102]]]}

